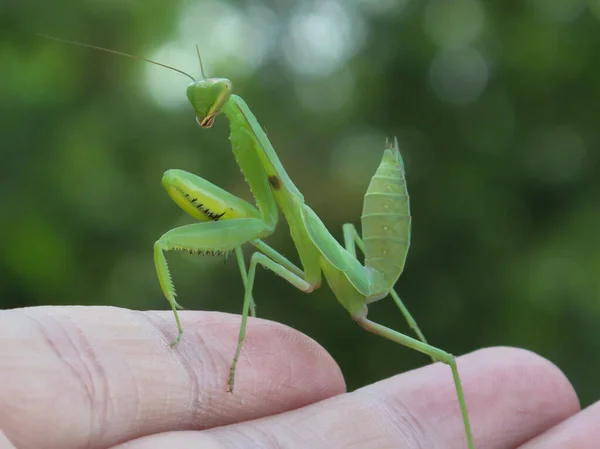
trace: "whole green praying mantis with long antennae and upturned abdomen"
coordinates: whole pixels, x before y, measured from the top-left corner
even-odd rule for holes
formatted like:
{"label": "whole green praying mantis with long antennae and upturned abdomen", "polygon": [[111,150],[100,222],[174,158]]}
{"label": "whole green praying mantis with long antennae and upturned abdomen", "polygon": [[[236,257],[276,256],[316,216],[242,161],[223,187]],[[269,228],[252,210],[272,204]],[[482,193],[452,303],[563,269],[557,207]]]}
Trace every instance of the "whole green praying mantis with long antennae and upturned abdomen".
{"label": "whole green praying mantis with long antennae and upturned abdomen", "polygon": [[[44,36],[49,37],[49,36]],[[154,262],[162,291],[169,301],[177,324],[179,343],[183,328],[165,253],[188,251],[192,254],[224,254],[235,252],[245,289],[238,343],[228,379],[232,392],[236,366],[246,333],[248,316],[255,316],[252,296],[256,269],[260,265],[281,276],[294,287],[310,293],[321,285],[324,276],[335,297],[365,330],[393,342],[422,352],[448,365],[452,371],[467,446],[474,449],[469,414],[454,356],[427,343],[416,321],[393,289],[402,274],[411,234],[409,195],[404,163],[398,141],[387,141],[383,157],[364,197],[361,216],[362,235],[354,224],[343,225],[344,245],[327,230],[317,214],[305,203],[303,195],[288,176],[263,128],[248,105],[232,92],[225,78],[207,78],[200,59],[202,79],[155,61],[79,42],[61,42],[108,51],[175,70],[188,76],[187,98],[201,128],[210,128],[223,114],[230,125],[233,154],[254,196],[256,206],[238,198],[209,181],[183,170],[168,170],[162,184],[168,195],[198,223],[181,226],[163,234],[154,244]],[[197,48],[197,47],[196,47]],[[302,268],[263,241],[275,230],[281,209],[289,224],[290,234]],[[242,246],[250,243],[257,251],[249,266]],[[364,254],[364,264],[356,248]],[[409,337],[367,318],[372,302],[391,296],[418,339]]]}

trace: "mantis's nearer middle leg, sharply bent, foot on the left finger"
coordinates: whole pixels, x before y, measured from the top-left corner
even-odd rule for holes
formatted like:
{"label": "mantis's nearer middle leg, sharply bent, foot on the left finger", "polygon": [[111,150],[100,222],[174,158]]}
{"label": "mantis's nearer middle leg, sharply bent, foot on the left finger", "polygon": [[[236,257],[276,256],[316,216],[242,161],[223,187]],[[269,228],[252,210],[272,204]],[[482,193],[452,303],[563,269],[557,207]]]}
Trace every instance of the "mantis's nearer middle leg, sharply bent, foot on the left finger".
{"label": "mantis's nearer middle leg, sharply bent, foot on the left finger", "polygon": [[[255,244],[255,242],[252,242]],[[273,250],[274,251],[274,250]],[[275,252],[275,251],[274,251]],[[276,252],[275,252],[276,253]],[[279,254],[279,253],[277,253]],[[283,256],[281,256],[283,257]],[[284,258],[285,259],[285,258]],[[286,259],[287,260],[287,259]],[[235,383],[235,370],[237,367],[238,360],[240,358],[240,353],[242,351],[242,345],[244,343],[244,338],[246,337],[246,324],[248,320],[248,312],[250,311],[251,305],[253,303],[252,299],[252,288],[254,287],[254,278],[256,277],[256,267],[257,265],[262,265],[264,268],[271,270],[273,273],[281,276],[294,287],[302,290],[304,292],[311,292],[314,289],[314,286],[310,283],[306,282],[302,277],[298,274],[294,273],[284,265],[275,260],[267,257],[266,255],[256,252],[252,254],[252,258],[250,259],[250,268],[248,269],[248,278],[246,282],[246,292],[244,294],[244,308],[242,310],[242,323],[240,325],[240,332],[238,335],[238,343],[235,349],[235,355],[233,357],[233,361],[231,362],[231,369],[229,370],[229,381],[228,381],[228,391],[233,392],[233,385]]]}

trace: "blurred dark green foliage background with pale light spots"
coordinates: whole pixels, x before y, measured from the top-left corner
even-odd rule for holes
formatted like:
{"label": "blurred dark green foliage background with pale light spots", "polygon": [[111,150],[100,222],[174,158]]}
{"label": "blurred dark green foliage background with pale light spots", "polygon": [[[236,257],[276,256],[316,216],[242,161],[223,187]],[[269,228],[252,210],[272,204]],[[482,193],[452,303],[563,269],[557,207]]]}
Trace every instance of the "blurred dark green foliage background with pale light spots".
{"label": "blurred dark green foliage background with pale light spots", "polygon": [[[154,241],[190,223],[169,168],[251,199],[220,117],[187,79],[39,38],[233,80],[333,235],[359,224],[387,136],[413,238],[397,285],[457,354],[531,349],[600,396],[600,0],[13,2],[0,14],[0,301],[166,309]],[[282,220],[268,240],[295,258]],[[234,259],[170,253],[189,308],[239,313]],[[319,341],[356,388],[427,363],[356,326],[327,287],[260,271],[259,315]],[[391,301],[371,317],[406,330]],[[173,325],[173,331],[175,326]]]}

